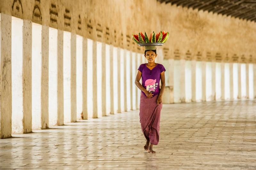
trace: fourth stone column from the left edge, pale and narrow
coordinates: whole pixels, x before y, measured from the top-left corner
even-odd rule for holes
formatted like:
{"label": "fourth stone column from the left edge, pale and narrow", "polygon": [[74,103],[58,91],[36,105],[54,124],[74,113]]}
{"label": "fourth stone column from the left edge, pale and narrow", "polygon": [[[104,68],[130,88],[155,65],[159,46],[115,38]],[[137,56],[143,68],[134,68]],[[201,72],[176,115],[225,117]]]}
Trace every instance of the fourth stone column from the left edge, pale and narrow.
{"label": "fourth stone column from the left edge, pale and narrow", "polygon": [[64,124],[64,93],[63,93],[63,31],[58,30],[58,60],[57,60],[57,125]]}

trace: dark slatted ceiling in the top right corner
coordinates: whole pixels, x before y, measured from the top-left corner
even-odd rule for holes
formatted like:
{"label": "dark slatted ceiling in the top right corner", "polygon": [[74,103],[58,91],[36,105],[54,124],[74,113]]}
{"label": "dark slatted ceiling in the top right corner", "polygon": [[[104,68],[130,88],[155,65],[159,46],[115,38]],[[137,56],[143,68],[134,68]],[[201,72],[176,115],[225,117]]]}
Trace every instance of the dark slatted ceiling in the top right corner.
{"label": "dark slatted ceiling in the top right corner", "polygon": [[256,0],[157,0],[256,22]]}

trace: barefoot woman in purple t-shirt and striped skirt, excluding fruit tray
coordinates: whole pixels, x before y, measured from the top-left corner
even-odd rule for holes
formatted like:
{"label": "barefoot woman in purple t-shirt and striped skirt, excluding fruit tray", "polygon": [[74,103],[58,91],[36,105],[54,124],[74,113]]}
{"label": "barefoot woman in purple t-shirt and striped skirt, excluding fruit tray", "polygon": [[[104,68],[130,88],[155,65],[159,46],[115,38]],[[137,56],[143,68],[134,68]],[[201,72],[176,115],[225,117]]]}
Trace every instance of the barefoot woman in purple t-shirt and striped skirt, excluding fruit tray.
{"label": "barefoot woman in purple t-shirt and striped skirt, excluding fruit tray", "polygon": [[[148,63],[141,64],[136,76],[135,84],[141,90],[140,94],[140,125],[147,139],[144,149],[148,153],[153,151],[153,145],[159,142],[160,112],[162,109],[162,96],[165,87],[165,68],[155,63],[156,46],[145,46],[144,56]],[[140,84],[142,78],[142,85]],[[161,89],[159,87],[161,79]]]}

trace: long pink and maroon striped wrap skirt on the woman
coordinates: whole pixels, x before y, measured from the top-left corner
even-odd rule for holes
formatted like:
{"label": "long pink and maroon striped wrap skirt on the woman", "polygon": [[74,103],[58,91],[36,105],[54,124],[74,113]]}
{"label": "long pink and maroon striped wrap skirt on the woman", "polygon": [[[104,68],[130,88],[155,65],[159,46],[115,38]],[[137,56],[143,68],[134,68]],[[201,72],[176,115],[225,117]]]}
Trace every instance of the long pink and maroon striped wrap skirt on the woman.
{"label": "long pink and maroon striped wrap skirt on the woman", "polygon": [[158,95],[147,98],[142,92],[140,94],[140,125],[141,130],[151,144],[159,142],[160,112],[163,104],[156,105]]}

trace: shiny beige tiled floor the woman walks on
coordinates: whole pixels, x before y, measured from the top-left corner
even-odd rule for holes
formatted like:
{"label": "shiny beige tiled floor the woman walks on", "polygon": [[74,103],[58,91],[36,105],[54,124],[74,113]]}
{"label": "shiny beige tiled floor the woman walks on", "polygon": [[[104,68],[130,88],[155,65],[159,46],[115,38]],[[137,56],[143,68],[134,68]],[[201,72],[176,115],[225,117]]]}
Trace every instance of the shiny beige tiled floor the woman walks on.
{"label": "shiny beige tiled floor the woman walks on", "polygon": [[164,105],[155,154],[132,111],[0,139],[0,169],[256,169],[256,100]]}

